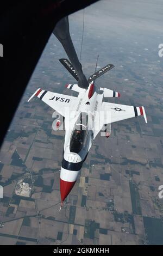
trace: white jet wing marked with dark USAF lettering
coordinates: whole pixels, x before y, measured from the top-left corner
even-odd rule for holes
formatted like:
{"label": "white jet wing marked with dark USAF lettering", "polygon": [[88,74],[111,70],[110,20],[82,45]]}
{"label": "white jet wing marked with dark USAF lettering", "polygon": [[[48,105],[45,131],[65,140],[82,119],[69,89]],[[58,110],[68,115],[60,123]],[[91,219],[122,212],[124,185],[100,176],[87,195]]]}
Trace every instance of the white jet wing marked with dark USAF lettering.
{"label": "white jet wing marked with dark USAF lettering", "polygon": [[66,107],[74,109],[74,103],[79,101],[78,97],[65,94],[52,93],[47,90],[37,89],[36,92],[29,98],[30,101],[34,96],[45,102],[49,107],[53,108],[63,117],[65,117]]}

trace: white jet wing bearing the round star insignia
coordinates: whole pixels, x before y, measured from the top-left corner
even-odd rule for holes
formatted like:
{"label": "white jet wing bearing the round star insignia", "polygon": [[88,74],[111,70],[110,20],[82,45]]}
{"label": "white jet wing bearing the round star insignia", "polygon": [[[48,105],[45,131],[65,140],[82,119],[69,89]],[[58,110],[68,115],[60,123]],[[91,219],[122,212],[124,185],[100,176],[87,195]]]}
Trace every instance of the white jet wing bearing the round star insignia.
{"label": "white jet wing bearing the round star insignia", "polygon": [[105,124],[114,123],[116,121],[128,119],[131,117],[138,117],[139,115],[143,115],[145,121],[147,123],[145,108],[121,105],[109,102],[102,103],[102,112],[105,114]]}

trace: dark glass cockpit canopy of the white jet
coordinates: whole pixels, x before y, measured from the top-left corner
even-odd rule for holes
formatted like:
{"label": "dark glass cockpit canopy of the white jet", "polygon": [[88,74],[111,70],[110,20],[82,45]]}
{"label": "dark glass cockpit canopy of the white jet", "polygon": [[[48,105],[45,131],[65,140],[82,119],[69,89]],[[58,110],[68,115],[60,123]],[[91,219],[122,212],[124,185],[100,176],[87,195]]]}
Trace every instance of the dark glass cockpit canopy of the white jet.
{"label": "dark glass cockpit canopy of the white jet", "polygon": [[82,112],[79,115],[74,129],[72,131],[70,139],[70,152],[79,153],[83,148],[83,144],[86,137],[88,115],[86,112]]}

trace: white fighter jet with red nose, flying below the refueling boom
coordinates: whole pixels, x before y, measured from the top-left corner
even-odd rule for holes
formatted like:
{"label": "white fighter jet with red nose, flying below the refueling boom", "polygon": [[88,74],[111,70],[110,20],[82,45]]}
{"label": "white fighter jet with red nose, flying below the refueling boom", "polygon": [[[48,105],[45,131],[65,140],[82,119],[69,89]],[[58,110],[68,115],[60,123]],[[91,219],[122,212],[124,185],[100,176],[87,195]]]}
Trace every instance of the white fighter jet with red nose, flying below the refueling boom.
{"label": "white fighter jet with red nose, flying below the refueling boom", "polygon": [[[77,72],[72,64],[67,59],[60,59],[60,62],[78,81]],[[108,64],[95,72],[88,78],[89,87],[86,89],[80,88],[78,84],[66,84],[66,88],[76,91],[78,96],[48,92],[39,88],[28,100],[37,96],[64,117],[65,144],[60,170],[61,206],[77,181],[78,173],[99,131],[103,129],[105,136],[109,137],[111,123],[139,115],[143,115],[147,123],[143,106],[127,106],[104,101],[108,97],[120,97],[120,93],[98,88],[94,81],[113,67],[114,65]],[[58,120],[57,127],[60,123]]]}

